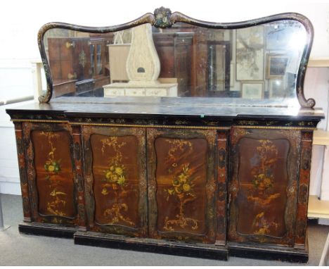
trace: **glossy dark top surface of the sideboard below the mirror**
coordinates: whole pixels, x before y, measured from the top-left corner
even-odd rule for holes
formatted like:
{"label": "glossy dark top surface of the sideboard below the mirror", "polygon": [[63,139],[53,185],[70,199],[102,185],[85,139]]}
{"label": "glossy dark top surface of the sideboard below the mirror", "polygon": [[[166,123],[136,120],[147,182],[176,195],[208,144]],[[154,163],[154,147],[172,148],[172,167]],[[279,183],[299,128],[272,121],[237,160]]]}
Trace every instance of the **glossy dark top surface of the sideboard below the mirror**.
{"label": "glossy dark top surface of the sideboard below the mirror", "polygon": [[27,104],[7,109],[9,114],[58,114],[70,116],[91,117],[121,115],[129,118],[144,118],[149,116],[179,116],[180,118],[277,118],[295,120],[320,120],[324,118],[321,108],[307,109],[277,106],[238,106],[221,103],[218,99],[198,98],[198,102],[191,98],[166,97],[113,97],[113,98],[58,98],[49,104]]}

